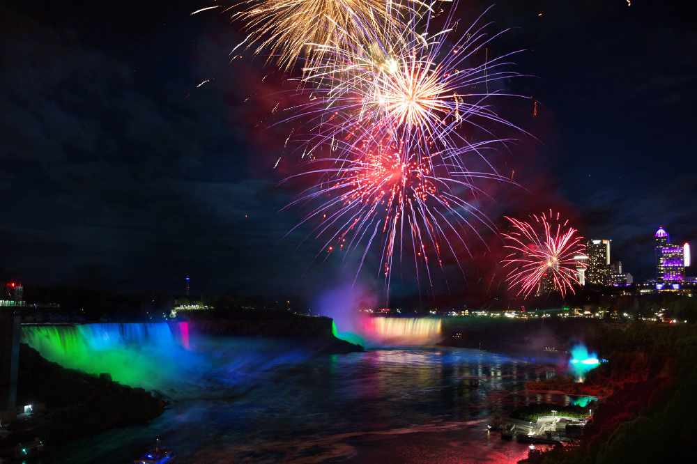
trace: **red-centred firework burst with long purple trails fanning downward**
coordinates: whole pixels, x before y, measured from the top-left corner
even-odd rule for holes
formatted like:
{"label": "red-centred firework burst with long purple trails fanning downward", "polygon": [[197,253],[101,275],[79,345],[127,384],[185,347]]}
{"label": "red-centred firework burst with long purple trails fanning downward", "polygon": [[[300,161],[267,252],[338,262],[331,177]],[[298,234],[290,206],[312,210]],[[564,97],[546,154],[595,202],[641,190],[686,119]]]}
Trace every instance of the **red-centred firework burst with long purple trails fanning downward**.
{"label": "red-centred firework burst with long purple trails fanning downward", "polygon": [[[373,139],[348,159],[321,158],[311,163],[316,169],[293,177],[319,176],[319,182],[287,207],[318,199],[323,203],[296,228],[319,219],[312,235],[324,240],[323,252],[342,251],[345,258],[362,248],[356,278],[369,249],[380,243],[379,269],[388,291],[395,254],[401,262],[405,244],[411,244],[418,281],[422,269],[432,285],[429,256],[440,268],[444,254],[460,265],[456,248],[469,252],[466,234],[479,234],[473,222],[494,230],[486,215],[461,198],[460,190],[478,187],[454,178],[440,162],[425,162],[424,155],[404,151],[404,146],[388,139]],[[487,172],[462,174],[466,179],[507,180]]]}

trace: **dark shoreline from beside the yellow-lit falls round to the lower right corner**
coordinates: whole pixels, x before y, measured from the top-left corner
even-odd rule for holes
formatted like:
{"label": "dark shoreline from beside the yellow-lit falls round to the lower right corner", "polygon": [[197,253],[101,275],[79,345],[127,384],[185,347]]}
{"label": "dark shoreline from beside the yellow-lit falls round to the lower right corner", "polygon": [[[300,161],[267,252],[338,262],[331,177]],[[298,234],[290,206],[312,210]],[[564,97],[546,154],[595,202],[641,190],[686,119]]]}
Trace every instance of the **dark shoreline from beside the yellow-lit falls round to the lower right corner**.
{"label": "dark shoreline from beside the yellow-lit falls round to the lower right corner", "polygon": [[[697,435],[697,326],[605,320],[452,318],[443,345],[519,353],[557,364],[558,376],[526,382],[527,392],[601,397],[572,447],[530,452],[528,464],[677,461]],[[583,382],[566,372],[569,350],[584,343],[601,363]],[[549,359],[545,353],[549,353]]]}

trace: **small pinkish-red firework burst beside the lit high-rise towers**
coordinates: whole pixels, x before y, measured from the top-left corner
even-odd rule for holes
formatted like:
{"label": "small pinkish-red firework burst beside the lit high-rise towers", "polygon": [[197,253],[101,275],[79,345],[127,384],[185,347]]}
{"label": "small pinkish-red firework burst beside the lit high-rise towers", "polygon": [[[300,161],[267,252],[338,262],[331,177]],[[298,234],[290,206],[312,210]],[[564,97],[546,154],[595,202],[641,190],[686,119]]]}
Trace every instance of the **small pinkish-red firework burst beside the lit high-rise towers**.
{"label": "small pinkish-red firework burst beside the lit high-rise towers", "polygon": [[510,288],[517,289],[517,295],[528,297],[546,278],[562,297],[567,291],[575,293],[577,268],[585,267],[577,257],[585,256],[585,245],[569,221],[562,222],[560,214],[555,215],[552,210],[549,214],[531,215],[529,222],[506,219],[512,230],[504,233],[503,238],[510,254],[502,262],[509,268]]}

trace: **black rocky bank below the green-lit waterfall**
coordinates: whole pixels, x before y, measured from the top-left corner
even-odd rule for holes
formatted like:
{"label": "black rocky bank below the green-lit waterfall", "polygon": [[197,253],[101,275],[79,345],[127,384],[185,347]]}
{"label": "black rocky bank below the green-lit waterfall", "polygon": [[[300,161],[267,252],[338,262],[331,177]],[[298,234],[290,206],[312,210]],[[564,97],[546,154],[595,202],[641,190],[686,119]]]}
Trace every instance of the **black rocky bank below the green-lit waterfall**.
{"label": "black rocky bank below the green-lit waterfall", "polygon": [[32,405],[8,427],[0,444],[9,452],[19,442],[43,440],[47,447],[109,428],[143,424],[164,411],[165,403],[141,388],[113,382],[109,376],[91,376],[44,359],[22,343],[17,403]]}

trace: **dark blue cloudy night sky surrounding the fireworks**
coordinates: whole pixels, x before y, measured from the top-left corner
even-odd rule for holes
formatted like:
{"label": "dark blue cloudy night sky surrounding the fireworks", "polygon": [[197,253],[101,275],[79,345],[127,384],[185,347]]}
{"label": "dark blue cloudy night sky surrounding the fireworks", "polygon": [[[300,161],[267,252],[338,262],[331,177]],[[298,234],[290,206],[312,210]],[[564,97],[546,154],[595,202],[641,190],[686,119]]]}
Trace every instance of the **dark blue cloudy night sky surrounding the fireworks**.
{"label": "dark blue cloudy night sky surrounding the fireworks", "polygon": [[[689,2],[631,3],[513,0],[488,13],[512,28],[493,52],[525,50],[517,70],[531,77],[506,85],[539,101],[539,117],[529,100],[502,102],[535,137],[493,156],[526,189],[492,187],[487,214],[562,210],[585,237],[611,238],[613,260],[641,279],[659,225],[697,244],[697,23]],[[295,161],[273,169],[283,134],[266,129],[283,77],[250,54],[230,63],[244,35],[215,10],[190,16],[209,4],[3,2],[2,277],[176,292],[190,274],[197,293],[273,295],[353,278],[339,256],[314,257],[309,229],[286,235],[302,217],[282,210]],[[461,1],[461,14],[490,5]],[[436,293],[498,272],[500,243],[487,240]],[[429,293],[395,280],[397,294]]]}

